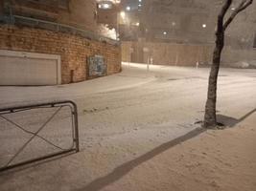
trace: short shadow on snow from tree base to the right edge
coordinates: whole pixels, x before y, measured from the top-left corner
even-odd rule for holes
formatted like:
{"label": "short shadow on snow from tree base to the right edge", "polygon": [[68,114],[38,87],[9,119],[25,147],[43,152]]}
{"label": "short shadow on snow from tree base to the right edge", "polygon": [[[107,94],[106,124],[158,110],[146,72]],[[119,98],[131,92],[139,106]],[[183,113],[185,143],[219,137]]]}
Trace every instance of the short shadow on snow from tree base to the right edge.
{"label": "short shadow on snow from tree base to the right edge", "polygon": [[234,127],[236,124],[242,122],[246,117],[251,116],[254,112],[256,112],[256,108],[245,114],[243,117],[234,118],[234,117],[227,117],[223,115],[217,115],[218,122],[224,124],[227,127]]}

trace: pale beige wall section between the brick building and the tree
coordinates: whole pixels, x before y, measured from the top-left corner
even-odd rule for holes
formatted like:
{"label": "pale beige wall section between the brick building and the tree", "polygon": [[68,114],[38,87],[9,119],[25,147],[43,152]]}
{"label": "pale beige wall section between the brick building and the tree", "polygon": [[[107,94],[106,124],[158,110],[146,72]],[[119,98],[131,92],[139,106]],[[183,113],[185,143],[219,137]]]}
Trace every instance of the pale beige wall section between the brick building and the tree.
{"label": "pale beige wall section between the brick building and the tree", "polygon": [[[153,64],[195,66],[210,63],[213,47],[210,45],[184,45],[172,43],[122,42],[122,61]],[[131,50],[130,50],[131,48]]]}

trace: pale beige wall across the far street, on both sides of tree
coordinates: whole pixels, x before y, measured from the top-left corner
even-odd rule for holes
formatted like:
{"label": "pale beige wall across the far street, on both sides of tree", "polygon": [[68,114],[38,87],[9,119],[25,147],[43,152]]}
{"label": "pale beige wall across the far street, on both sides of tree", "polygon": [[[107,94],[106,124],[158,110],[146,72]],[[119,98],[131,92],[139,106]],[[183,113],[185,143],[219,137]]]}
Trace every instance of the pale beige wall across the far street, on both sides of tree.
{"label": "pale beige wall across the far street, on both sides of tree", "polygon": [[[153,64],[196,66],[196,63],[212,62],[214,44],[175,44],[152,42],[122,42],[122,61],[147,63],[152,57]],[[222,65],[234,66],[237,62],[256,61],[256,49],[232,49],[225,46],[221,56]]]}

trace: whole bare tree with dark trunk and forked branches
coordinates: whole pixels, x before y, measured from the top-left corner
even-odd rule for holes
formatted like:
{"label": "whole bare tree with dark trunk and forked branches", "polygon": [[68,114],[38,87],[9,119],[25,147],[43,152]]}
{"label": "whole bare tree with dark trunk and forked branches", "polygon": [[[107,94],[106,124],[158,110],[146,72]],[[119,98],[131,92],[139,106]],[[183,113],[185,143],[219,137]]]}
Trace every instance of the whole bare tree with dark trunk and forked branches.
{"label": "whole bare tree with dark trunk and forked branches", "polygon": [[234,20],[236,15],[244,11],[249,5],[251,5],[253,0],[242,0],[238,7],[233,10],[230,16],[224,20],[226,12],[230,9],[233,0],[224,0],[224,4],[221,8],[221,12],[218,15],[217,30],[216,30],[216,41],[215,49],[213,53],[213,63],[211,67],[211,72],[208,82],[208,95],[205,105],[205,114],[203,120],[203,126],[206,128],[214,128],[217,126],[216,119],[216,98],[217,98],[217,82],[218,74],[221,63],[221,52],[224,46],[224,33],[230,23]]}

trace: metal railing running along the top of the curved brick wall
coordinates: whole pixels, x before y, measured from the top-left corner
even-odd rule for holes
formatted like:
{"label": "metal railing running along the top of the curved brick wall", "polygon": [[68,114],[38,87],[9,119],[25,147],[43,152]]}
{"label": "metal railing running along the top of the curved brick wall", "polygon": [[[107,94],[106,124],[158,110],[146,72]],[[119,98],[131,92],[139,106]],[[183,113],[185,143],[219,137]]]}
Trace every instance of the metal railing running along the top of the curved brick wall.
{"label": "metal railing running along the top of the curved brick wall", "polygon": [[10,24],[10,25],[23,25],[27,27],[33,27],[33,28],[48,30],[52,32],[65,32],[70,34],[77,34],[87,39],[105,42],[112,45],[120,45],[120,42],[118,40],[105,37],[95,32],[85,31],[73,26],[60,24],[56,22],[45,21],[41,19],[35,19],[31,17],[12,15],[12,14],[0,16],[0,21],[2,23]]}

